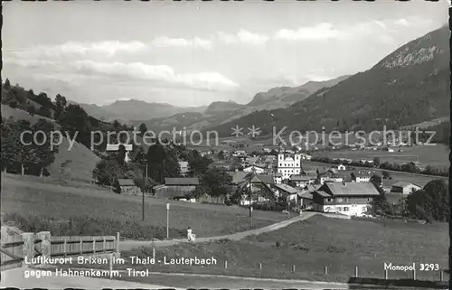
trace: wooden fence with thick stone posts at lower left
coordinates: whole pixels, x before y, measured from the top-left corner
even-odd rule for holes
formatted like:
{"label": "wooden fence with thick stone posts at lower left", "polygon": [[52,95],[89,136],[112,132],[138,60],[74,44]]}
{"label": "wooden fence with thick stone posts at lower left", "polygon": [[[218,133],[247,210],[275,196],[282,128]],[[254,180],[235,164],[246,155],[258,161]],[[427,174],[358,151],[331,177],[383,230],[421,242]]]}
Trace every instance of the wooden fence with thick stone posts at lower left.
{"label": "wooden fence with thick stone posts at lower left", "polygon": [[0,247],[2,271],[24,267],[32,257],[70,257],[116,253],[119,233],[114,236],[52,237],[50,231],[23,233],[3,238]]}

